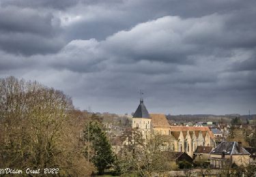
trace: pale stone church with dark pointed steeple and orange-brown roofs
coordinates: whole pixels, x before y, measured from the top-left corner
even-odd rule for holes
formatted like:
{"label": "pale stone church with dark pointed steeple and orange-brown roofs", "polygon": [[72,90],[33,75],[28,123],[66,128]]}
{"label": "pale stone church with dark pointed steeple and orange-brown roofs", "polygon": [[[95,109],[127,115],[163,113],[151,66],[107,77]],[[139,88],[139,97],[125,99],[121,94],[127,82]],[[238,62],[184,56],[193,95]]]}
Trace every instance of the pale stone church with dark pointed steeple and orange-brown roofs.
{"label": "pale stone church with dark pointed steeple and orange-brown roofs", "polygon": [[214,146],[214,134],[208,127],[171,126],[165,114],[150,114],[141,98],[132,117],[132,128],[140,129],[143,138],[152,134],[165,135],[175,152],[186,152],[190,157],[197,146]]}

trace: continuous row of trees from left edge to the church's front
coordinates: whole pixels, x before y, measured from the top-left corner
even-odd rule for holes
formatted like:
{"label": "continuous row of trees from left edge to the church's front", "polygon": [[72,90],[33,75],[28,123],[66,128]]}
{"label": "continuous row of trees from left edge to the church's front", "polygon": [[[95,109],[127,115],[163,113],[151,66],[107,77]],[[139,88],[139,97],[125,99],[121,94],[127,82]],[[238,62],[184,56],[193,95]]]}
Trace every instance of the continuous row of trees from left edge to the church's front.
{"label": "continuous row of trees from left edge to the church's front", "polygon": [[75,110],[62,91],[11,76],[0,79],[0,99],[1,168],[51,167],[59,176],[167,170],[160,138],[145,144],[139,131],[129,130],[122,135],[128,144],[115,153],[102,118]]}

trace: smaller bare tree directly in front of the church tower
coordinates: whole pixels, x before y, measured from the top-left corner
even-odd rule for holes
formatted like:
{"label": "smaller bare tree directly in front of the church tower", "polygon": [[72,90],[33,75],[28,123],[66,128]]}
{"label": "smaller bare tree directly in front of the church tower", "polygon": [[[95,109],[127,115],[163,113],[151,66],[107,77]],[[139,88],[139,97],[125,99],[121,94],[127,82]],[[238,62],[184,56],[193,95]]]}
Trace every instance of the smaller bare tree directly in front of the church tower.
{"label": "smaller bare tree directly in front of the church tower", "polygon": [[[134,132],[138,133],[138,137],[139,131]],[[139,176],[152,176],[156,173],[164,175],[171,170],[171,164],[168,163],[168,157],[164,152],[170,149],[166,148],[167,144],[163,136],[152,135],[150,140],[136,138],[132,140],[132,145],[124,146],[122,155],[118,158],[119,168],[123,174],[133,172]],[[140,141],[136,142],[137,140]]]}

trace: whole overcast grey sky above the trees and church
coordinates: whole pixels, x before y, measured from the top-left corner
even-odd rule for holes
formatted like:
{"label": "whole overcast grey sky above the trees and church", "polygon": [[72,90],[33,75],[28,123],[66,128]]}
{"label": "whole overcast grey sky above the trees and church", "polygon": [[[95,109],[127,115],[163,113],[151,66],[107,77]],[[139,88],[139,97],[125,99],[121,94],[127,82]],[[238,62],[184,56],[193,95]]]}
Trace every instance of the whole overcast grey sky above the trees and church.
{"label": "whole overcast grey sky above the trees and church", "polygon": [[0,0],[0,77],[124,114],[256,114],[256,1]]}

